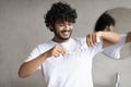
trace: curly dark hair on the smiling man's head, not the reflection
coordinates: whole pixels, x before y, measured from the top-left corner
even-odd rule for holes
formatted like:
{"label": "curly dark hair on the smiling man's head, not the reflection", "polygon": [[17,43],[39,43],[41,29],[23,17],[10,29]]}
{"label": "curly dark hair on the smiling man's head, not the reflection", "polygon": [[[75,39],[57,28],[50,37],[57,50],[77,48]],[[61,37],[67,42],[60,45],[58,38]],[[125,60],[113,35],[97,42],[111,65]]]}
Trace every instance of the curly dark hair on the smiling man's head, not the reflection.
{"label": "curly dark hair on the smiling man's head, not the reflection", "polygon": [[75,18],[78,17],[75,9],[72,9],[70,4],[67,2],[57,2],[51,5],[51,9],[47,11],[47,14],[44,16],[46,26],[52,32],[53,29],[50,28],[55,27],[56,21],[61,22],[71,22],[75,23]]}

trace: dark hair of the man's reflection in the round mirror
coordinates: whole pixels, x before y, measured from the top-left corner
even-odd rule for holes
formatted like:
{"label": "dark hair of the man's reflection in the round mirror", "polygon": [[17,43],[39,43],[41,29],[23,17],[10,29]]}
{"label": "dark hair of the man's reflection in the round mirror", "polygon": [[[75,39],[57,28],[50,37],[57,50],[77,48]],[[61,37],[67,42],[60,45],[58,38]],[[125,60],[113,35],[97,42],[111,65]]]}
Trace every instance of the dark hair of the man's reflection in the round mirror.
{"label": "dark hair of the man's reflection in the round mirror", "polygon": [[95,32],[104,30],[106,28],[106,26],[110,26],[110,25],[115,26],[116,21],[111,15],[109,15],[107,12],[105,12],[97,20],[94,30]]}

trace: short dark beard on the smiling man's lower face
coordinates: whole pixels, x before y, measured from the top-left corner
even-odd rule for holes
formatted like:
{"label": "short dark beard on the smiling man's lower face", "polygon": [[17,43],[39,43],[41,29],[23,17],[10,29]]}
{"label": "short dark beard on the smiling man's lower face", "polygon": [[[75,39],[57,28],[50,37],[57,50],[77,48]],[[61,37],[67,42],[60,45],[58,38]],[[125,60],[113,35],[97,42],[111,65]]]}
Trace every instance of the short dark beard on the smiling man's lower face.
{"label": "short dark beard on the smiling man's lower face", "polygon": [[[55,36],[60,39],[60,40],[68,40],[70,39],[71,37],[71,34],[72,34],[72,30],[61,30],[61,32],[58,32],[57,29],[53,29],[55,32]],[[64,34],[66,33],[69,33],[69,35],[66,37]]]}

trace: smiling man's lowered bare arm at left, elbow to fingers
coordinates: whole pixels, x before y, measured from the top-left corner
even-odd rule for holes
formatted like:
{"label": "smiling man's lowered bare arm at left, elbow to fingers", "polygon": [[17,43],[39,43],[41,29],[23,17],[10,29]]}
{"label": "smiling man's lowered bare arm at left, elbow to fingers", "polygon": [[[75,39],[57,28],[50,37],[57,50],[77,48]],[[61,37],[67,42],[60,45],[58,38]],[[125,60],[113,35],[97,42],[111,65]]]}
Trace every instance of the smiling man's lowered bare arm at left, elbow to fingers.
{"label": "smiling man's lowered bare arm at left, elbow to fingers", "polygon": [[43,62],[45,62],[46,59],[52,55],[57,58],[59,57],[59,54],[66,54],[66,51],[61,47],[55,46],[53,48],[38,55],[34,60],[23,63],[19,70],[19,76],[21,78],[25,78],[32,75],[43,64]]}

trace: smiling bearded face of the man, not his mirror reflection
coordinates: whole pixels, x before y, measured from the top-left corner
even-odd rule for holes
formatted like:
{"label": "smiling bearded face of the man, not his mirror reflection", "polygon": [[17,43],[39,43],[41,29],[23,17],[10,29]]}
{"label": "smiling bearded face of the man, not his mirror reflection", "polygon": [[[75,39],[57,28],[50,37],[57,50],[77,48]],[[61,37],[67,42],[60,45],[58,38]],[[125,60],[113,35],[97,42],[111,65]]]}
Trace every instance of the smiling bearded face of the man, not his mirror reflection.
{"label": "smiling bearded face of the man, not his mirror reflection", "polygon": [[73,23],[57,21],[55,24],[55,38],[60,41],[68,40],[72,34]]}

